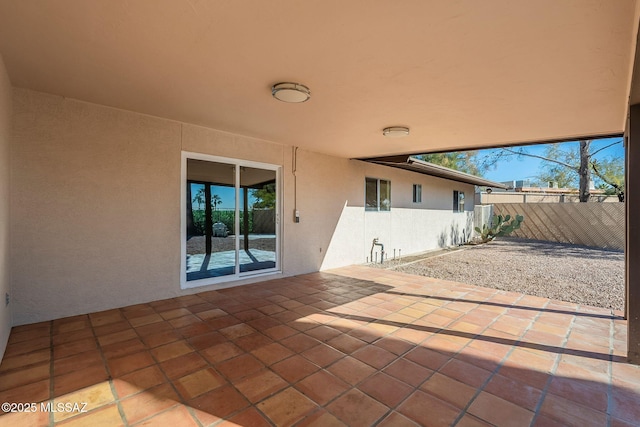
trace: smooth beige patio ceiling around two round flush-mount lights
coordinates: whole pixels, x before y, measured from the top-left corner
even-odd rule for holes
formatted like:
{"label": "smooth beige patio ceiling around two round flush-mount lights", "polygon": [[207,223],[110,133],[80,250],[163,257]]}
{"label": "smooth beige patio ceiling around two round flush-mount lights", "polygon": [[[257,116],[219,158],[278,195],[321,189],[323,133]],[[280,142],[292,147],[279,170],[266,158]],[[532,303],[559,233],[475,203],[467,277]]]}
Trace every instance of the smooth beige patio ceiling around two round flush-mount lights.
{"label": "smooth beige patio ceiling around two round flush-mount lights", "polygon": [[635,0],[0,0],[0,54],[16,87],[373,157],[621,133],[637,23]]}

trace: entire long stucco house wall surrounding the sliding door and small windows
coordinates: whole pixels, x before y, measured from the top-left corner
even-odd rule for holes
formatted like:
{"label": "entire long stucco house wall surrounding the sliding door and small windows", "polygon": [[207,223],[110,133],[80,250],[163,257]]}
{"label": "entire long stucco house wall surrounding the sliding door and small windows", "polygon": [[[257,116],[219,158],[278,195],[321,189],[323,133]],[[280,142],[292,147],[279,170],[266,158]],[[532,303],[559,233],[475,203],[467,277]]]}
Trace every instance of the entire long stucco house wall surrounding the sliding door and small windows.
{"label": "entire long stucco house wall surrounding the sliding door and small windows", "polygon": [[[364,263],[374,237],[433,249],[471,223],[472,185],[23,89],[13,99],[15,325],[216,289],[180,288],[183,151],[281,166],[283,275]],[[391,181],[390,212],[365,212],[365,177]],[[452,212],[453,190],[466,212]]]}

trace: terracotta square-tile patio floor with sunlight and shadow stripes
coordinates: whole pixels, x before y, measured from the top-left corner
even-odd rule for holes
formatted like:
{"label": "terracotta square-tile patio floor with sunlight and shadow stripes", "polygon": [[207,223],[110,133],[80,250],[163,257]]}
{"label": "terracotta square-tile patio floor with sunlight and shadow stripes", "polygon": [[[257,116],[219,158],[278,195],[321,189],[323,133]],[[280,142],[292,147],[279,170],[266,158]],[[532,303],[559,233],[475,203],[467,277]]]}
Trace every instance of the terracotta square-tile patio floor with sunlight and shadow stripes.
{"label": "terracotta square-tile patio floor with sunlight and shadow stripes", "polygon": [[620,313],[349,267],[16,327],[0,402],[36,411],[0,425],[639,425],[625,334]]}

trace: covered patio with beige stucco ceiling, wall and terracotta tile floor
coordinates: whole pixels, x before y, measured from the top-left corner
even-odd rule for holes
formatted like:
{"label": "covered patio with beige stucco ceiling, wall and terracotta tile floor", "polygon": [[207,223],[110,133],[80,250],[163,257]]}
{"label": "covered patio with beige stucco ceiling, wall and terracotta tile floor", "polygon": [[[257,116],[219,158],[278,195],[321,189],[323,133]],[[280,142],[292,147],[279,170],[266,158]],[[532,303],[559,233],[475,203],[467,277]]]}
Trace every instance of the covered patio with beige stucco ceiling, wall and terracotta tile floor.
{"label": "covered patio with beige stucco ceiling, wall and terracotta tile floor", "polygon": [[[638,425],[639,24],[638,0],[0,0],[0,425]],[[472,184],[408,156],[612,136],[624,313],[349,267],[471,230]],[[276,249],[245,263],[258,184]]]}

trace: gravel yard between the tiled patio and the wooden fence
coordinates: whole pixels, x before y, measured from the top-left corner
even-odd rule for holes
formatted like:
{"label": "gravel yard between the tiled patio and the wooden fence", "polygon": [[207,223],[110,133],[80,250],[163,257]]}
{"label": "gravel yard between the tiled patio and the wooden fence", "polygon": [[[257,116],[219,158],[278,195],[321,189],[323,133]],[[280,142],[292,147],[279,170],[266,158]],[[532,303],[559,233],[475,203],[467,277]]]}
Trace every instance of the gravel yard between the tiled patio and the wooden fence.
{"label": "gravel yard between the tiled patio and the wooden fence", "polygon": [[[382,267],[596,307],[623,310],[624,253],[503,238]],[[378,264],[380,266],[380,264]]]}

